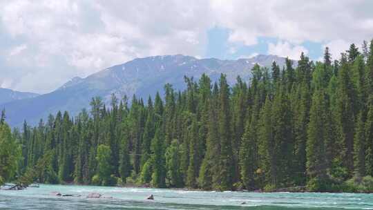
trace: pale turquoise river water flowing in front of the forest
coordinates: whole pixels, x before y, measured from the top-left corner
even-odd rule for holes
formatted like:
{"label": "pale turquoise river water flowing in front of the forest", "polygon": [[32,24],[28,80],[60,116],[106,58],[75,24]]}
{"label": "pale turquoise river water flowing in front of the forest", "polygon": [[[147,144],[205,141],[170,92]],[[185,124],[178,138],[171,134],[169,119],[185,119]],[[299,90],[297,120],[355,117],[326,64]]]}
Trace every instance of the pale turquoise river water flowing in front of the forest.
{"label": "pale turquoise river water flowing in front of the forest", "polygon": [[[59,197],[52,192],[79,197]],[[86,198],[100,193],[106,198]],[[146,200],[153,194],[155,200]],[[242,204],[245,202],[245,204]],[[245,193],[41,184],[0,191],[0,209],[373,209],[373,194]]]}

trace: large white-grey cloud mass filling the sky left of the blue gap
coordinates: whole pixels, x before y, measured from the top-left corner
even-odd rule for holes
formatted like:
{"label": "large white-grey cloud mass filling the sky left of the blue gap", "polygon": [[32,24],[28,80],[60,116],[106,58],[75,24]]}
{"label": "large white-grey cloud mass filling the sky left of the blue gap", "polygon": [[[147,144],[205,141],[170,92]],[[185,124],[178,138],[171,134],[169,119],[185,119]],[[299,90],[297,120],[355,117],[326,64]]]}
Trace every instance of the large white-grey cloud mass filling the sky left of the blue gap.
{"label": "large white-grey cloud mass filling the sky left of the blue gap", "polygon": [[9,57],[2,64],[0,58],[0,71],[17,78],[10,88],[46,93],[72,77],[136,57],[201,55],[213,25],[208,6],[201,1],[0,1],[0,31],[8,36],[0,43],[16,43],[6,52],[0,49]]}

